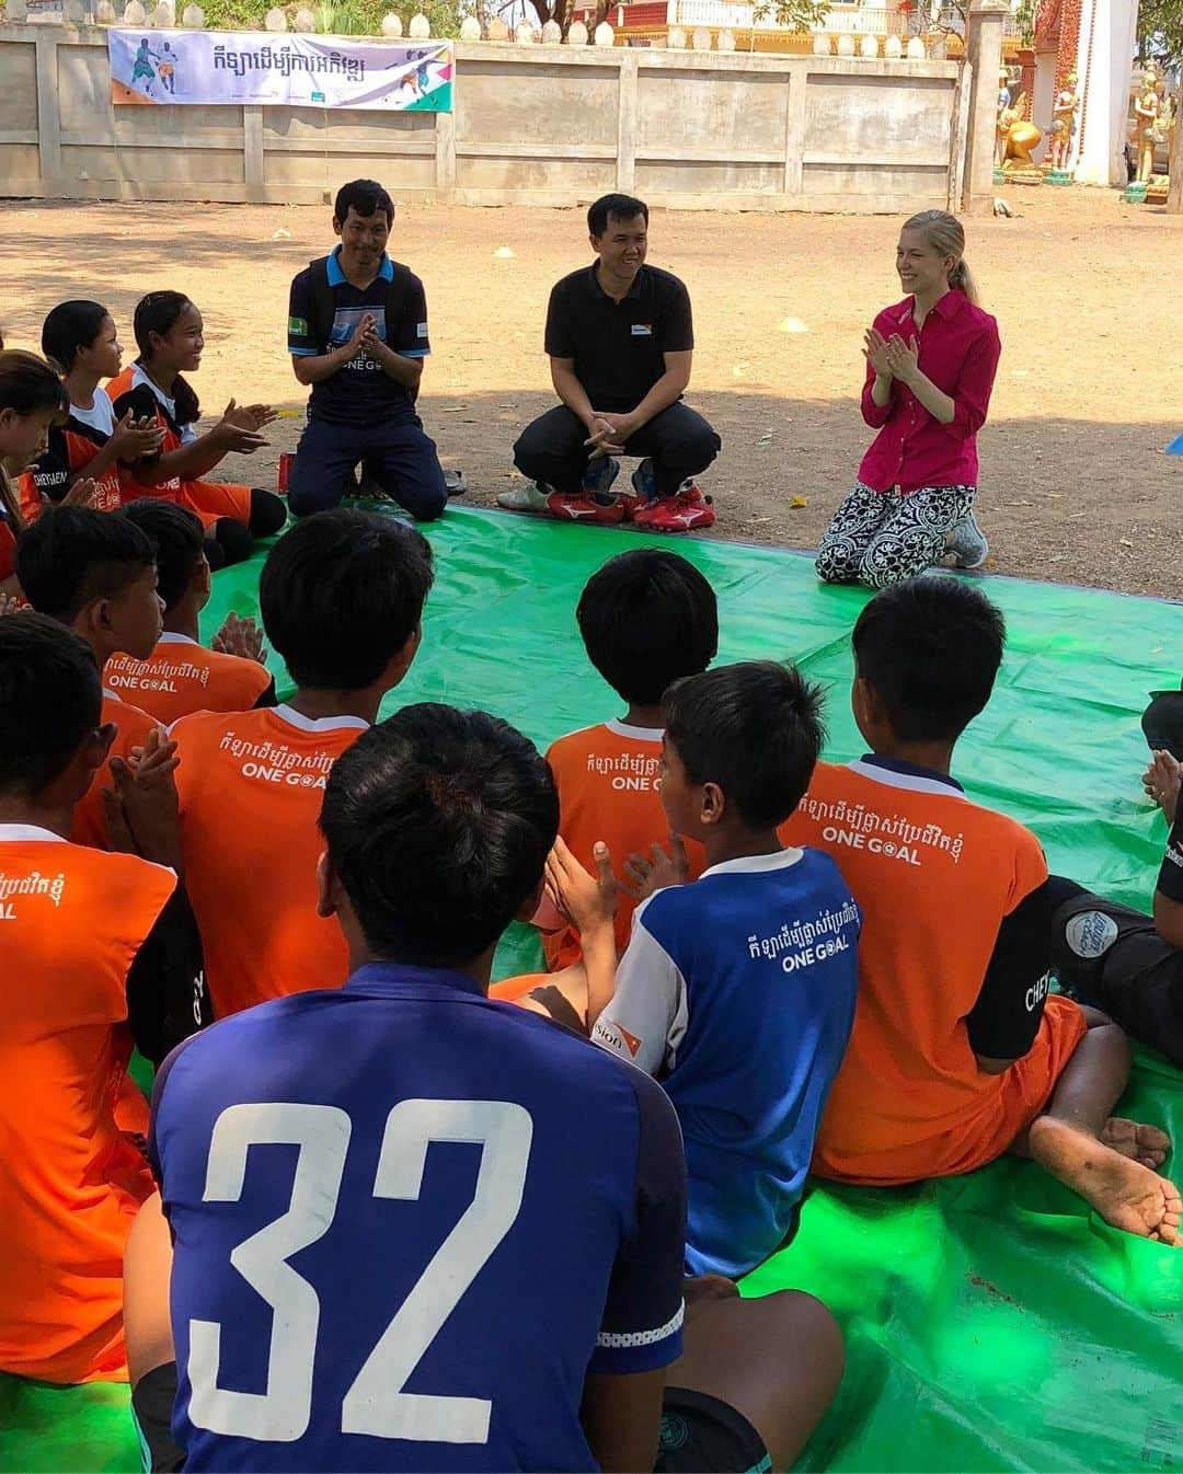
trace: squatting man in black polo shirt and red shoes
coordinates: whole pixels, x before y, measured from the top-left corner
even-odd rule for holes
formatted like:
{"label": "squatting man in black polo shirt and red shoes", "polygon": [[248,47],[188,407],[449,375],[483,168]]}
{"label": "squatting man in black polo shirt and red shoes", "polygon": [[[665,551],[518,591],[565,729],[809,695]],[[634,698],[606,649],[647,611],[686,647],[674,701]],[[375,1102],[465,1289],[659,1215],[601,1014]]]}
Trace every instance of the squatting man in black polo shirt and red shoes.
{"label": "squatting man in black polo shirt and red shoes", "polygon": [[[534,485],[502,494],[513,511],[687,532],[715,520],[695,476],[718,454],[711,426],[681,402],[695,335],[676,276],[645,265],[649,209],[605,195],[587,212],[596,262],[550,293],[546,351],[562,404],[522,430],[513,461]],[[617,495],[617,455],[640,455],[633,495]]]}

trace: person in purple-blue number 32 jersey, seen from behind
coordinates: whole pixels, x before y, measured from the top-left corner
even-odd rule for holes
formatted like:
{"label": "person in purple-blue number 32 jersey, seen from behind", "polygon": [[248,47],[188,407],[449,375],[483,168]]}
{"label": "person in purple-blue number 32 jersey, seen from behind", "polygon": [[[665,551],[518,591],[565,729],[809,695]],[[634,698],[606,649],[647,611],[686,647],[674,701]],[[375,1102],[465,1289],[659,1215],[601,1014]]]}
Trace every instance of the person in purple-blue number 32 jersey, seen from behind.
{"label": "person in purple-blue number 32 jersey, seen from behind", "polygon": [[659,1468],[791,1461],[841,1378],[829,1313],[692,1282],[679,1361],[668,1101],[487,996],[558,828],[535,749],[407,708],[320,822],[348,983],[227,1019],[156,1083],[125,1285],[153,1468],[640,1470],[662,1427]]}

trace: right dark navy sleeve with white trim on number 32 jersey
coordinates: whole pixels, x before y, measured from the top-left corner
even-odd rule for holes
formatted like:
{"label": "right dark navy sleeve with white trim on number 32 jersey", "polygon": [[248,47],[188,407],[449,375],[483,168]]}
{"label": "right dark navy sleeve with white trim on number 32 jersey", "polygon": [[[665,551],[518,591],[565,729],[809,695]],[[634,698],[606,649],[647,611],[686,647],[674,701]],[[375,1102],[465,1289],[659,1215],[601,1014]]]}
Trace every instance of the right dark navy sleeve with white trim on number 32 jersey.
{"label": "right dark navy sleeve with white trim on number 32 jersey", "polygon": [[612,1266],[589,1371],[622,1375],[681,1356],[686,1159],[665,1092],[630,1072],[637,1101],[633,1232]]}

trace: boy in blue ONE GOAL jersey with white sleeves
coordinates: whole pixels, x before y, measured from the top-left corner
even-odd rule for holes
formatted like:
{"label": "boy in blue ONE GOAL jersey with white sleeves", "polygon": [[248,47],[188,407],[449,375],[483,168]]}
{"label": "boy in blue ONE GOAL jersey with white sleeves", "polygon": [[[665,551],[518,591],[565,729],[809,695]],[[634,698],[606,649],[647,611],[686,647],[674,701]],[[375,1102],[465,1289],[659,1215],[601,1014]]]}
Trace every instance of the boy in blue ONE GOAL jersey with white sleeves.
{"label": "boy in blue ONE GOAL jersey with white sleeves", "polygon": [[[774,662],[720,666],[677,681],[664,716],[680,864],[625,867],[649,899],[592,1038],[665,1086],[686,1144],[687,1269],[735,1276],[792,1226],[854,1021],[861,920],[835,862],[776,833],[822,747],[817,687]],[[707,852],[689,884],[683,836]]]}

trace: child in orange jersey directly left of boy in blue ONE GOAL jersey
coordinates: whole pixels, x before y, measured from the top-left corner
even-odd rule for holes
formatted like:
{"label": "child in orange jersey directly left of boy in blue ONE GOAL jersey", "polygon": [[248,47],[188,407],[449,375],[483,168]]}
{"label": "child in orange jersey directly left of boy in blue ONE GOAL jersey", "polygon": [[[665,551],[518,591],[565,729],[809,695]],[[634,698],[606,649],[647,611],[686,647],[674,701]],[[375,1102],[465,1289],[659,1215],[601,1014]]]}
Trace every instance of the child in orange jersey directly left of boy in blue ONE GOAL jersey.
{"label": "child in orange jersey directly left of boy in blue ONE GOAL jersey", "polygon": [[[559,833],[574,858],[594,870],[597,842],[622,864],[668,836],[656,784],[661,699],[674,681],[698,675],[714,659],[718,607],[693,563],[661,548],[633,548],[592,575],[575,619],[587,657],[627,708],[620,719],[559,737],[546,755],[559,787]],[[692,846],[690,877],[701,870],[702,850]],[[621,890],[618,949],[628,945],[636,905]],[[543,945],[552,971],[578,961],[578,937],[550,905],[543,905],[535,924],[547,929]]]}

